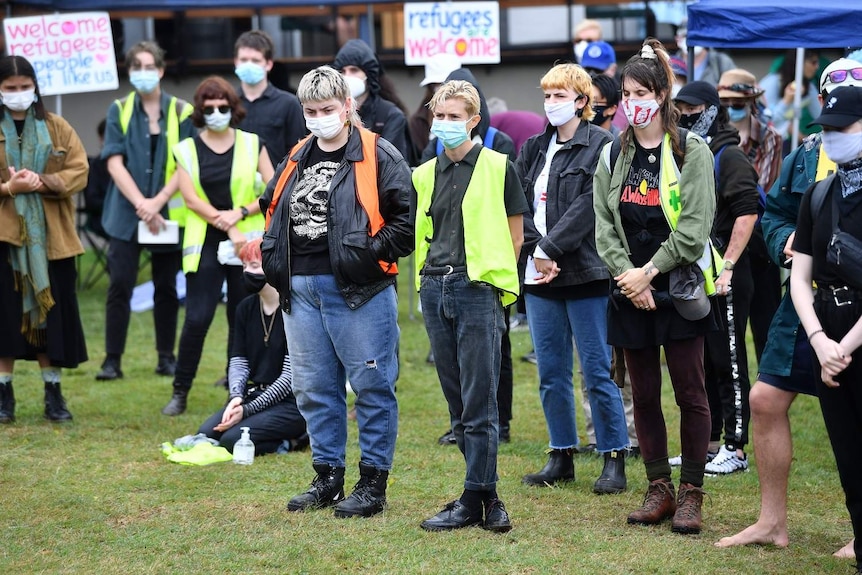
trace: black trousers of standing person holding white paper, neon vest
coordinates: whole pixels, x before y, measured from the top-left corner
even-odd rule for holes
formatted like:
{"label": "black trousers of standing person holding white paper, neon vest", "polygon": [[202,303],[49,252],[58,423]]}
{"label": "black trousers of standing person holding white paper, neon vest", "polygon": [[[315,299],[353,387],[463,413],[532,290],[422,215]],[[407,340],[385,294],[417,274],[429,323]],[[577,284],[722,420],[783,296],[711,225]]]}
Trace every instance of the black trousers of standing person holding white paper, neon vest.
{"label": "black trousers of standing person holding white paper, neon vest", "polygon": [[[137,242],[111,238],[108,246],[108,285],[105,302],[105,352],[120,356],[126,350],[129,331],[132,290],[138,281],[141,250]],[[177,340],[177,272],[182,266],[182,252],[156,251],[151,254],[153,276],[153,323],[156,328],[156,351],[173,355]]]}

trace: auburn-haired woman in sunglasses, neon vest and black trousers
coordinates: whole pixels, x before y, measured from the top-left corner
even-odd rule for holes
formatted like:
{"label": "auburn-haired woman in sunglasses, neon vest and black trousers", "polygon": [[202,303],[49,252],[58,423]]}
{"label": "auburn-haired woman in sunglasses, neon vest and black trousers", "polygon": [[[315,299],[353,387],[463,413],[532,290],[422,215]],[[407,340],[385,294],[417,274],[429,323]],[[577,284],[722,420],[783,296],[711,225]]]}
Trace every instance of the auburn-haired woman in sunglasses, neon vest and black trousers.
{"label": "auburn-haired woman in sunglasses, neon vest and black trousers", "polygon": [[174,146],[180,191],[189,208],[183,236],[186,317],[180,335],[171,400],[164,415],[186,410],[213,315],[227,282],[227,349],[233,348],[234,316],[247,295],[239,266],[222,263],[219,244],[230,240],[234,252],[263,233],[258,196],[272,178],[264,142],[236,126],[245,110],[222,78],[210,76],[195,90],[192,123],[202,128],[194,138]]}

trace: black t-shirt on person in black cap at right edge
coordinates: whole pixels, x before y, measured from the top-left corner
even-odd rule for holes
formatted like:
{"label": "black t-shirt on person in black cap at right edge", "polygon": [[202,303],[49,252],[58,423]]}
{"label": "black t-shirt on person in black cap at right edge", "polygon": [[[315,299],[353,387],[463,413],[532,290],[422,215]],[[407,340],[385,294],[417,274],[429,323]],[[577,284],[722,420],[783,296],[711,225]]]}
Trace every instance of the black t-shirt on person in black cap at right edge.
{"label": "black t-shirt on person in black cap at right edge", "polygon": [[826,261],[826,248],[832,238],[832,210],[837,203],[838,227],[841,231],[862,239],[862,209],[859,208],[862,205],[862,191],[857,191],[846,198],[842,197],[841,182],[836,177],[823,201],[820,213],[812,218],[811,192],[813,189],[814,186],[811,186],[805,192],[799,206],[793,251],[813,258],[811,278],[818,284],[846,285],[848,282],[841,278],[838,269]]}

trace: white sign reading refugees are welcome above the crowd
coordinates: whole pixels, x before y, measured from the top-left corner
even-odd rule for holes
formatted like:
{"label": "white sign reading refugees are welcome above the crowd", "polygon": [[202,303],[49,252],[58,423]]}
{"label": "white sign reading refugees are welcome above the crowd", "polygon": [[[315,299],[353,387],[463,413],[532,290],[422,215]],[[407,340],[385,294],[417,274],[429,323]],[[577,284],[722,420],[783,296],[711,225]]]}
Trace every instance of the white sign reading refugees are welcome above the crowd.
{"label": "white sign reading refugees are welcome above the crowd", "polygon": [[405,2],[405,63],[424,64],[441,52],[455,54],[464,64],[499,63],[497,2]]}

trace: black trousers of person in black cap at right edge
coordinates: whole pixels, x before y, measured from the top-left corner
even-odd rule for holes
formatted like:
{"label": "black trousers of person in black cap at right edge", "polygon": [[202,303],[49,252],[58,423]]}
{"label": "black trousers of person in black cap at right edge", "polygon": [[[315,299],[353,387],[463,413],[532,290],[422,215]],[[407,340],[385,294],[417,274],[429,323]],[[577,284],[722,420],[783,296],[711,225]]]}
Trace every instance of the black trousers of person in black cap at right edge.
{"label": "black trousers of person in black cap at right edge", "polygon": [[[862,292],[853,296],[851,305],[838,307],[831,297],[818,297],[814,311],[823,331],[830,339],[841,341],[862,317]],[[836,378],[839,387],[828,387],[819,380],[820,363],[814,354],[813,365],[818,374],[817,395],[829,442],[835,454],[838,476],[844,489],[847,511],[856,536],[857,569],[862,568],[862,459],[859,438],[862,437],[862,349],[853,353],[853,360]]]}

